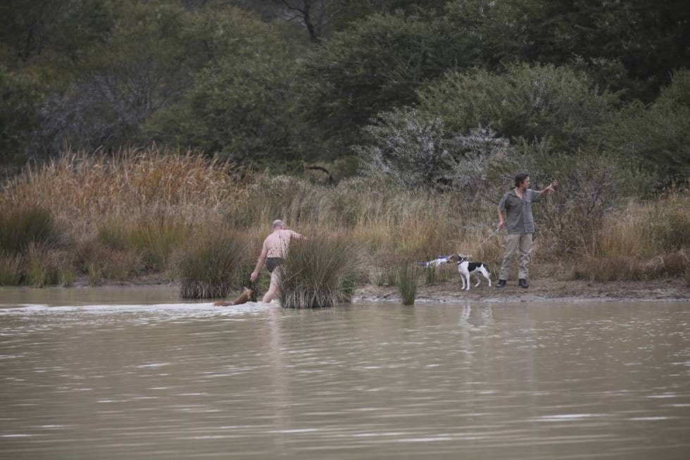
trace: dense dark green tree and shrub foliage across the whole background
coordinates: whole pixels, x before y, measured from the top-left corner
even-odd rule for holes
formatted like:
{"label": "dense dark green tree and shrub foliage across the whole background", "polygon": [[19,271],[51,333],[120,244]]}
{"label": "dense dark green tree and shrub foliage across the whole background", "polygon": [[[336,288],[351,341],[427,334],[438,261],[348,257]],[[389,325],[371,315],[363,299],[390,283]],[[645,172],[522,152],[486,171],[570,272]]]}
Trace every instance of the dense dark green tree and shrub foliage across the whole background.
{"label": "dense dark green tree and shrub foliage across the whole background", "polygon": [[0,12],[6,173],[65,145],[151,142],[340,177],[363,154],[365,171],[402,173],[426,161],[408,157],[423,141],[431,166],[412,185],[448,189],[500,166],[475,142],[488,136],[508,160],[585,152],[655,185],[689,175],[686,1],[8,0]]}

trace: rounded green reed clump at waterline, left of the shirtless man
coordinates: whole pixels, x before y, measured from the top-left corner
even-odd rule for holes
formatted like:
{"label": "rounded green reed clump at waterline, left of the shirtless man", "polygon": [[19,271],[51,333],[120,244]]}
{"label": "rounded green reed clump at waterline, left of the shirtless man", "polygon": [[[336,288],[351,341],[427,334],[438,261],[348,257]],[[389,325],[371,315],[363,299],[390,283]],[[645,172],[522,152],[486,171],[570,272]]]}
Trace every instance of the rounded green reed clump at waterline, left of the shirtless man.
{"label": "rounded green reed clump at waterline, left of the shirtless man", "polygon": [[227,297],[249,279],[252,261],[251,246],[239,233],[201,231],[189,240],[177,261],[180,295],[183,299]]}

